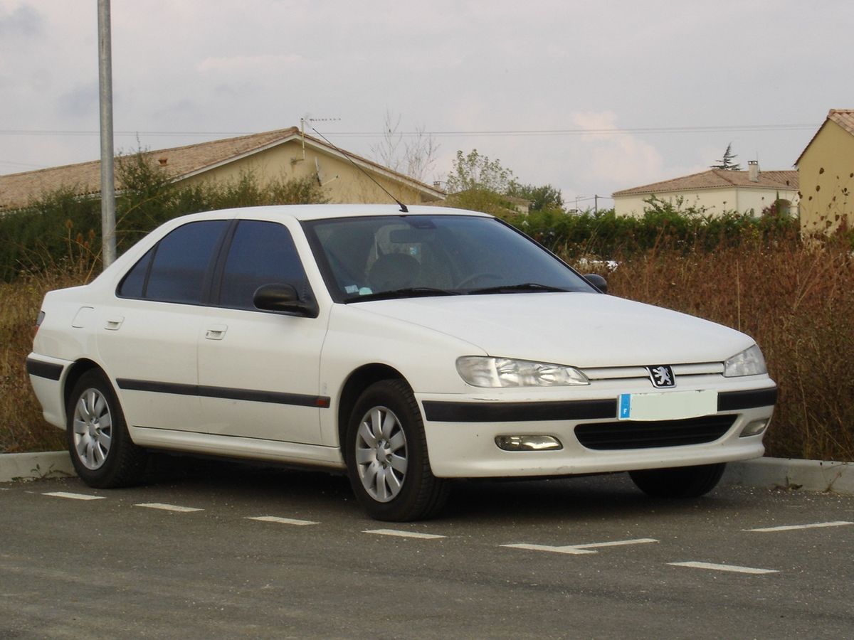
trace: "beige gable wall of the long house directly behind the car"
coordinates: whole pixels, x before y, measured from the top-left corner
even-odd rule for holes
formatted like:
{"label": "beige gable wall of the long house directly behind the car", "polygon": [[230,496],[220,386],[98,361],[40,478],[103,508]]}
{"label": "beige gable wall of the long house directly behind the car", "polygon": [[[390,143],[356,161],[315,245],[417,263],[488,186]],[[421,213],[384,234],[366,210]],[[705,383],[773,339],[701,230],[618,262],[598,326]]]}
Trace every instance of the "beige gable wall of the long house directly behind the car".
{"label": "beige gable wall of the long house directly behind the car", "polygon": [[[323,191],[330,202],[394,204],[389,201],[389,196],[384,194],[382,189],[379,189],[370,178],[348,160],[318,152],[308,145],[303,158],[302,145],[297,141],[279,144],[242,160],[229,162],[227,165],[187,178],[184,183],[233,181],[245,172],[252,172],[260,183],[269,183],[277,179],[315,177],[319,173]],[[417,189],[389,180],[377,173],[371,172],[371,176],[404,204],[418,204],[424,201],[424,195]]]}

